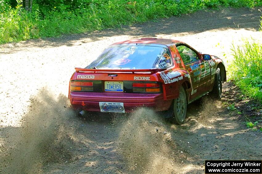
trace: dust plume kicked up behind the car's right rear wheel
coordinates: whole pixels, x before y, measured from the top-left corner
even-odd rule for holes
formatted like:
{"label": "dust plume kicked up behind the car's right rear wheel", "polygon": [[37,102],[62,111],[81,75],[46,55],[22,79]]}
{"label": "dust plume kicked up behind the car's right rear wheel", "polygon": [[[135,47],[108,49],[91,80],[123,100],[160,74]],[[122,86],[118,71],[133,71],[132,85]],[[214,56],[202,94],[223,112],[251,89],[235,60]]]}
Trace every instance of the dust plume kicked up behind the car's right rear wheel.
{"label": "dust plume kicked up behind the car's right rear wheel", "polygon": [[136,110],[123,122],[119,144],[132,173],[178,173],[179,161],[185,160],[166,121],[145,108]]}

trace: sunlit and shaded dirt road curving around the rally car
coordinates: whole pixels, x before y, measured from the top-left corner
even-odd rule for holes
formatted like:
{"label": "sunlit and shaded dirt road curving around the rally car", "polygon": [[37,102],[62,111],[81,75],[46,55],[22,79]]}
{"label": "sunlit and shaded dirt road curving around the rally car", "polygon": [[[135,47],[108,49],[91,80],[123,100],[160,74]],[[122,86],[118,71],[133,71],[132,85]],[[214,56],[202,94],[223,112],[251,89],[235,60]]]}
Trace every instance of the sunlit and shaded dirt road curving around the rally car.
{"label": "sunlit and shaded dirt road curving around the rally car", "polygon": [[228,64],[232,42],[261,40],[260,16],[258,8],[202,10],[122,29],[0,45],[0,173],[190,174],[203,173],[204,160],[261,160],[262,134],[245,127],[243,114],[224,107],[236,98],[230,83],[223,85],[221,101],[206,96],[190,104],[182,126],[143,108],[78,118],[67,98],[74,67],[85,67],[109,44],[172,38]]}

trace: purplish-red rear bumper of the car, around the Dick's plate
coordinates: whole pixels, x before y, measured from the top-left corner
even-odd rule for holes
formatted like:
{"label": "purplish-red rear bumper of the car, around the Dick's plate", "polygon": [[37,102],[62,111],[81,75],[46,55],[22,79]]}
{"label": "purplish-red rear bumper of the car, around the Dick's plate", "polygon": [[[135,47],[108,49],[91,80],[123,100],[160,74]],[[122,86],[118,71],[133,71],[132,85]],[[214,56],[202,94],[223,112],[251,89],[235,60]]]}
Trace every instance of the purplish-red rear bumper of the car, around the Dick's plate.
{"label": "purplish-red rear bumper of the car, around the Dick's plate", "polygon": [[[125,112],[138,107],[148,107],[154,111],[168,110],[172,100],[165,100],[163,94],[124,94],[70,92],[69,99],[74,109],[100,112],[99,102],[122,102]],[[84,105],[84,106],[83,106]]]}

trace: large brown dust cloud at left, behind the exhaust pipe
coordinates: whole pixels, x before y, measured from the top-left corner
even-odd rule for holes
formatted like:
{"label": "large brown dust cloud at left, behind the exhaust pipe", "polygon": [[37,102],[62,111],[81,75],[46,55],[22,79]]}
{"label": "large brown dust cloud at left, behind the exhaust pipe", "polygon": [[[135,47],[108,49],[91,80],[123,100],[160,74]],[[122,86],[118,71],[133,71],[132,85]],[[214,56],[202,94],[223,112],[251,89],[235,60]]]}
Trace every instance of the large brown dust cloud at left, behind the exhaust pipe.
{"label": "large brown dust cloud at left, behind the exhaust pipe", "polygon": [[47,163],[71,160],[69,145],[73,142],[67,136],[66,122],[74,112],[68,108],[68,98],[59,95],[55,100],[43,88],[30,101],[22,126],[10,138],[12,147],[1,155],[3,173],[42,173]]}

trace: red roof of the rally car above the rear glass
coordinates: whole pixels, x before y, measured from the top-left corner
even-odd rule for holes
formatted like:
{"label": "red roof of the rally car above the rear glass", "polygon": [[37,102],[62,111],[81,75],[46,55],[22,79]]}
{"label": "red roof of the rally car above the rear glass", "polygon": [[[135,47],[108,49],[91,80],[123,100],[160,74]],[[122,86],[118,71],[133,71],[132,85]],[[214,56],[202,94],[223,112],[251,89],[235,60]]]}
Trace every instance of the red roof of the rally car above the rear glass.
{"label": "red roof of the rally car above the rear glass", "polygon": [[183,43],[181,41],[173,40],[173,39],[158,39],[158,38],[141,38],[141,39],[133,39],[133,40],[127,40],[122,42],[117,42],[114,44],[163,44],[163,45],[171,45],[172,43]]}

